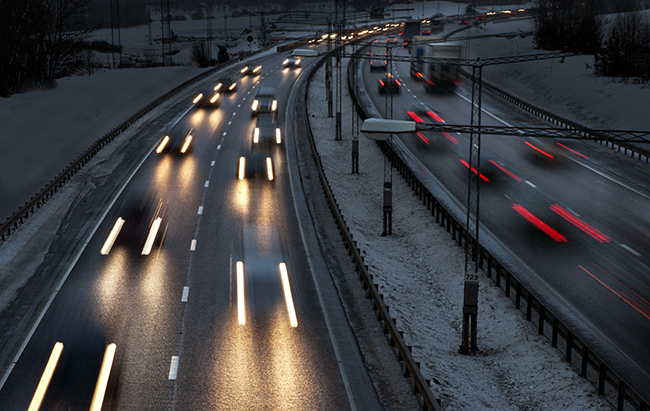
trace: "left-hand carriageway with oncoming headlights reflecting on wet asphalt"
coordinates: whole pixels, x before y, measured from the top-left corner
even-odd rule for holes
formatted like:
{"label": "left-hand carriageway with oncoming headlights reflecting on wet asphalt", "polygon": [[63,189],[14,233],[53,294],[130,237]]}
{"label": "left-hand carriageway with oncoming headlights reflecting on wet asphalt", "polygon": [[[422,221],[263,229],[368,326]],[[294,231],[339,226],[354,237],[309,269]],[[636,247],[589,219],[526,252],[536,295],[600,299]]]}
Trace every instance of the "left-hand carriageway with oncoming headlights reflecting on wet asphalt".
{"label": "left-hand carriageway with oncoming headlights reflecting on wet asphalt", "polygon": [[[261,74],[243,76],[217,108],[192,107],[188,92],[163,127],[191,127],[187,153],[157,153],[163,130],[140,136],[147,155],[112,176],[123,183],[107,205],[86,205],[103,218],[0,391],[2,409],[28,409],[57,342],[41,409],[87,409],[108,344],[116,351],[104,409],[381,407],[305,226],[290,128],[271,150],[273,181],[237,178],[255,91],[276,87],[281,125],[290,112],[304,69],[283,68],[283,58],[260,57]],[[129,211],[143,198],[145,224]],[[160,230],[141,255],[151,216]],[[104,248],[120,218],[123,231]]]}

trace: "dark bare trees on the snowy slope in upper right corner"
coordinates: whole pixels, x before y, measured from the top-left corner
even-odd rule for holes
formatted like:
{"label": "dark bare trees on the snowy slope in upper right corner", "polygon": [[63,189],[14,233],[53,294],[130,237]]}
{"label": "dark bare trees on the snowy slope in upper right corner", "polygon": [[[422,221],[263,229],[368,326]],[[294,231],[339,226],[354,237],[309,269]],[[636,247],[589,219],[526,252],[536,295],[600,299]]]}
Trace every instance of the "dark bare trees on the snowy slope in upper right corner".
{"label": "dark bare trees on the snowy slope in upper right corner", "polygon": [[[650,80],[648,1],[535,0],[533,41],[543,50],[591,54],[596,73]],[[617,13],[605,16],[606,14]]]}

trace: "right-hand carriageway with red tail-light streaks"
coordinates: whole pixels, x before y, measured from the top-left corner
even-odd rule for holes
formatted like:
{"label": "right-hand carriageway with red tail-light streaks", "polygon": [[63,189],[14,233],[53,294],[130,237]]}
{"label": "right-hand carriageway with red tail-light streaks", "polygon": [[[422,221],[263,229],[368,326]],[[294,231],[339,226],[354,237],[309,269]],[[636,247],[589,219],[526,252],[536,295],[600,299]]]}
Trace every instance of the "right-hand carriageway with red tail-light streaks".
{"label": "right-hand carriageway with red tail-light streaks", "polygon": [[[403,47],[395,50],[396,56],[408,55]],[[393,94],[394,119],[411,120],[411,111],[430,123],[471,123],[469,80],[454,92],[427,93],[410,77],[408,62],[393,64],[403,84]],[[371,72],[367,62],[362,73],[383,116],[383,73]],[[482,108],[483,125],[548,127],[489,93],[483,93]],[[445,193],[443,201],[464,210],[469,137],[422,133],[399,139]],[[624,364],[628,378],[650,381],[650,176],[608,149],[543,140],[482,136],[480,240],[505,250],[503,263],[545,290],[572,326]]]}

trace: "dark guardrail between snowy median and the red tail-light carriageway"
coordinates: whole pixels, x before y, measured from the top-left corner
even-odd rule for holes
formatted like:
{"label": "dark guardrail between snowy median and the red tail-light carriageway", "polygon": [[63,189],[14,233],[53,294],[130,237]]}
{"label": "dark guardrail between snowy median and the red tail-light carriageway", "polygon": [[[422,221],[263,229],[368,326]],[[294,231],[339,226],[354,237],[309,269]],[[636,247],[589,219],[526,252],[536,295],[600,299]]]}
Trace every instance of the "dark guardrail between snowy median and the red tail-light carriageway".
{"label": "dark guardrail between snowy median and the red tail-light carriageway", "polygon": [[[351,62],[355,60],[357,59],[351,59]],[[353,66],[354,64],[350,64],[348,67],[348,88],[357,112],[364,120],[369,117],[380,117],[374,106],[371,109],[368,108],[368,104],[372,105],[372,103],[365,90],[357,93],[358,90],[355,89],[353,83],[362,83],[355,80],[357,71]],[[427,187],[426,174],[421,171],[419,173],[414,171],[415,167],[409,166],[405,153],[398,149],[398,146],[393,147],[388,141],[378,141],[377,144],[384,155],[388,157],[392,167],[400,173],[411,187],[414,195],[431,212],[431,216],[435,217],[436,223],[445,227],[458,246],[463,247],[463,240],[465,239],[464,211],[455,215],[454,212],[439,201],[434,196],[433,189]],[[423,183],[423,181],[425,182]],[[562,321],[560,316],[554,313],[556,305],[551,302],[552,298],[543,296],[543,293],[537,291],[534,281],[512,274],[486,247],[481,244],[478,247],[479,267],[481,270],[485,272],[488,278],[494,280],[493,284],[501,288],[506,297],[514,300],[517,309],[525,310],[528,321],[537,323],[538,334],[550,338],[551,346],[554,348],[560,349],[559,343],[562,342],[567,362],[574,363],[574,354],[577,354],[579,358],[575,359],[575,362],[578,365],[581,377],[587,378],[590,368],[591,371],[595,371],[598,395],[605,395],[606,385],[609,385],[607,394],[613,393],[617,410],[623,411],[625,404],[629,404],[635,410],[650,411],[650,381],[628,381],[626,378],[622,378],[621,374],[623,372],[615,370],[613,365],[601,359],[606,353],[598,351],[603,351],[603,349],[598,345],[596,345],[598,350],[593,349],[593,346],[590,348],[584,341],[586,338],[580,338],[578,331],[572,330],[566,325],[571,321]],[[617,361],[613,361],[613,363],[618,366],[616,368],[620,368]],[[626,377],[629,378],[630,376],[626,375]]]}

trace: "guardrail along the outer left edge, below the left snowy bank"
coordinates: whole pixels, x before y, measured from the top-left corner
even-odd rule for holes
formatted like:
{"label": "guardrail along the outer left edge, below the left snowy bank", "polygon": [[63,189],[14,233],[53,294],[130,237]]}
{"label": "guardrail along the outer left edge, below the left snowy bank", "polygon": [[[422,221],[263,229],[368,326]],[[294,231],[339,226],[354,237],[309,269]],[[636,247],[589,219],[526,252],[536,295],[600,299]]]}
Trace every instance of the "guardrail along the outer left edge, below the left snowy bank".
{"label": "guardrail along the outer left edge, below the left snowy bank", "polygon": [[131,117],[127,118],[124,120],[120,125],[115,127],[113,130],[109,131],[106,133],[103,137],[99,138],[95,143],[88,148],[85,152],[83,152],[79,157],[77,157],[75,160],[73,160],[68,167],[66,167],[62,172],[59,173],[58,176],[50,180],[50,182],[35,196],[33,196],[29,201],[25,202],[25,205],[22,206],[18,211],[16,211],[11,217],[7,218],[7,221],[0,227],[0,245],[7,240],[7,238],[13,234],[18,227],[20,227],[25,220],[27,220],[29,217],[31,217],[38,209],[43,207],[45,203],[54,195],[56,194],[59,189],[61,189],[70,179],[79,172],[85,166],[88,164],[88,162],[99,153],[99,151],[106,147],[110,142],[115,140],[117,136],[122,134],[126,129],[128,129],[130,126],[135,124],[138,120],[140,120],[145,114],[149,113],[151,110],[154,108],[158,107],[160,104],[164,103],[167,101],[169,98],[175,96],[188,86],[201,81],[217,71],[235,64],[245,58],[250,57],[251,55],[255,55],[257,53],[260,53],[261,51],[264,50],[258,50],[255,53],[246,55],[244,57],[238,58],[238,59],[233,59],[231,61],[228,61],[227,63],[220,64],[210,70],[205,71],[204,73],[201,73],[186,82],[180,84],[179,86],[173,88],[172,90],[168,91],[167,93],[163,94],[162,96],[158,97],[157,99],[153,100],[151,103],[147,104],[143,108],[141,108],[138,112],[133,114]]}

